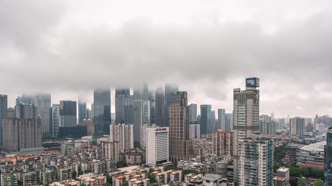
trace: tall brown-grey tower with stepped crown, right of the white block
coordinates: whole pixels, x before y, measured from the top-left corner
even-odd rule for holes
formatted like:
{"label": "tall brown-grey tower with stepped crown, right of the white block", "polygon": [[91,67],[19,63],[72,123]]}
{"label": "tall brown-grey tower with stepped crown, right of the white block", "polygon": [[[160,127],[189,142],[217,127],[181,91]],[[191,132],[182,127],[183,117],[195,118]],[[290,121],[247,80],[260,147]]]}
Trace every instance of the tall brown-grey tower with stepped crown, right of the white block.
{"label": "tall brown-grey tower with stepped crown, right of the white block", "polygon": [[169,102],[169,156],[173,163],[193,156],[190,140],[187,92],[170,93]]}

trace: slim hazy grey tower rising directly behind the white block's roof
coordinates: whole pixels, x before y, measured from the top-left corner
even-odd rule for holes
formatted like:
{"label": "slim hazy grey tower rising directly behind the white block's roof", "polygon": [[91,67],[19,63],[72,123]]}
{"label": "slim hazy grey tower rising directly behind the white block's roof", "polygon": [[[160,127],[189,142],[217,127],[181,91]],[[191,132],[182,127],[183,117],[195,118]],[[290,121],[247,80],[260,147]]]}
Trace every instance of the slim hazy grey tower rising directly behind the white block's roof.
{"label": "slim hazy grey tower rising directly behind the white block's roof", "polygon": [[165,92],[163,87],[156,90],[156,125],[164,126],[165,123]]}

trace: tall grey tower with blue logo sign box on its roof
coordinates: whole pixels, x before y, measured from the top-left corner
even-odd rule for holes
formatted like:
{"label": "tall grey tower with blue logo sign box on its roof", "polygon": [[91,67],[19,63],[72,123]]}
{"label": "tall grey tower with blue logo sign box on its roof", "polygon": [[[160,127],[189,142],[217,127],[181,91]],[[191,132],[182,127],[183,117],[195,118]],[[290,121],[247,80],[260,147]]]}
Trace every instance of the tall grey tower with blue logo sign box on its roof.
{"label": "tall grey tower with blue logo sign box on its roof", "polygon": [[247,78],[246,90],[233,91],[233,168],[237,180],[237,144],[239,139],[259,132],[259,78]]}

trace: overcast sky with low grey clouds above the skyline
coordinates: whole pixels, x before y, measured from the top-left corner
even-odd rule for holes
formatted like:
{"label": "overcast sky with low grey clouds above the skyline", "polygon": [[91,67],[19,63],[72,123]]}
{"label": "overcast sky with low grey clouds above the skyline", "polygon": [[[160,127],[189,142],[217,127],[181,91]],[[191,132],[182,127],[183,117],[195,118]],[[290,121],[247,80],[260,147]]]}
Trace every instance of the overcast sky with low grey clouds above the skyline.
{"label": "overcast sky with low grey clouds above the skyline", "polygon": [[[260,78],[260,114],[332,114],[331,0],[3,0],[0,94],[93,101],[93,88],[167,82],[232,112]],[[112,94],[112,112],[114,94]]]}

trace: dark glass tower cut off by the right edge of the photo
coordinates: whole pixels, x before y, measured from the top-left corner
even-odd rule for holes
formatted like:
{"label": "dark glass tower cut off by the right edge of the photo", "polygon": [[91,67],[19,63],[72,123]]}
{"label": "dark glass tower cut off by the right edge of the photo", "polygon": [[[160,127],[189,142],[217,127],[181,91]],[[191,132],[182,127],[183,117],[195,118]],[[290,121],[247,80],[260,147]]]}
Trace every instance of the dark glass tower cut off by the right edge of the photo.
{"label": "dark glass tower cut off by the right edge of the photo", "polygon": [[332,129],[326,133],[326,145],[324,147],[324,175],[325,186],[332,186]]}

